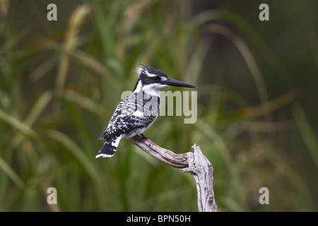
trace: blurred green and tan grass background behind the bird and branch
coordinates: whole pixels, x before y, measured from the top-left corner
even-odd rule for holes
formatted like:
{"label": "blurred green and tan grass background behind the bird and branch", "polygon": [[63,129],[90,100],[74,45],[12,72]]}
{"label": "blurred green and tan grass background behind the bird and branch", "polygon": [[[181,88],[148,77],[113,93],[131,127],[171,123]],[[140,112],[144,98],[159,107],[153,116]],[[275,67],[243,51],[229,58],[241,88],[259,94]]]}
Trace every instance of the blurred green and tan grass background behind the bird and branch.
{"label": "blurred green and tan grass background behind the bird and branch", "polygon": [[[47,20],[52,2],[57,21]],[[129,141],[95,159],[142,63],[199,86],[195,124],[158,117],[145,135],[175,153],[200,145],[219,211],[317,211],[317,8],[0,0],[0,210],[197,210],[191,175]],[[51,186],[57,205],[47,204]],[[269,205],[259,204],[263,186]]]}

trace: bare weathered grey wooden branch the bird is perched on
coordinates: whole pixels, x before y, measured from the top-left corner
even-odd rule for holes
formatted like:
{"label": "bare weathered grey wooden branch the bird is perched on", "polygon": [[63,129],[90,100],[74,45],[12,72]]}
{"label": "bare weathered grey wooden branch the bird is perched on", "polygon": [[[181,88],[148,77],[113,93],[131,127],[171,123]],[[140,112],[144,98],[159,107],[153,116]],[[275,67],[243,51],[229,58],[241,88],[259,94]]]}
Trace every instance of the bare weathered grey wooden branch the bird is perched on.
{"label": "bare weathered grey wooden branch the bird is perched on", "polygon": [[193,145],[193,153],[176,154],[171,150],[161,148],[149,139],[143,139],[141,136],[126,139],[155,157],[155,159],[172,167],[182,169],[183,172],[191,173],[196,180],[199,212],[216,212],[213,191],[213,166],[201,152],[199,146]]}

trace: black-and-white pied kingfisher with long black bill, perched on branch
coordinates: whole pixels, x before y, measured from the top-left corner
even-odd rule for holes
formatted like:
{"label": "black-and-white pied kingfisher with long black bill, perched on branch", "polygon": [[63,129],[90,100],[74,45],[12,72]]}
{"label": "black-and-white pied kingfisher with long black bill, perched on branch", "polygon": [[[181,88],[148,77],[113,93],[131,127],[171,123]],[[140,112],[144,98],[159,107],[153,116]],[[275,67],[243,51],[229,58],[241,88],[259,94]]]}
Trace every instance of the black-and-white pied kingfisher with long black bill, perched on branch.
{"label": "black-and-white pied kingfisher with long black bill, perched on branch", "polygon": [[126,99],[119,102],[116,107],[107,129],[100,139],[105,139],[102,149],[97,157],[112,157],[116,152],[119,141],[124,137],[133,137],[141,134],[149,128],[157,119],[160,108],[160,89],[168,85],[196,88],[182,81],[168,78],[163,71],[158,71],[140,64],[137,68],[139,74],[134,92]]}

